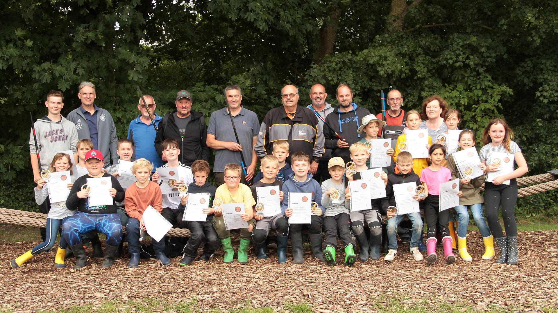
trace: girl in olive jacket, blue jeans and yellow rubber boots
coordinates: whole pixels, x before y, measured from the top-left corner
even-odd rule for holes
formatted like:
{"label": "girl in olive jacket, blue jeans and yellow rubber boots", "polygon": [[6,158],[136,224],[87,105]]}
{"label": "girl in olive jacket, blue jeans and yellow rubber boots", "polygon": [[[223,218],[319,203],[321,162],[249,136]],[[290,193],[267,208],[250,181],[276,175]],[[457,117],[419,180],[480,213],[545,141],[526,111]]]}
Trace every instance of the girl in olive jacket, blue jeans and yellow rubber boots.
{"label": "girl in olive jacket, blue jeans and yellow rubber boots", "polygon": [[[448,125],[448,128],[450,125]],[[472,130],[465,129],[459,134],[459,146],[461,149],[467,149],[475,146],[475,133]],[[480,167],[485,170],[484,163],[480,163]],[[463,178],[455,165],[453,154],[448,156],[448,169],[451,172],[451,179],[459,178],[459,190],[463,191],[463,196],[459,199],[459,206],[455,207],[458,214],[457,241],[459,246],[459,255],[463,261],[472,261],[473,258],[467,252],[467,225],[469,224],[469,213],[467,209],[473,213],[473,218],[484,241],[483,260],[491,260],[494,257],[494,242],[487,222],[483,217],[483,196],[480,195],[480,186],[484,183],[484,174],[475,178]]]}

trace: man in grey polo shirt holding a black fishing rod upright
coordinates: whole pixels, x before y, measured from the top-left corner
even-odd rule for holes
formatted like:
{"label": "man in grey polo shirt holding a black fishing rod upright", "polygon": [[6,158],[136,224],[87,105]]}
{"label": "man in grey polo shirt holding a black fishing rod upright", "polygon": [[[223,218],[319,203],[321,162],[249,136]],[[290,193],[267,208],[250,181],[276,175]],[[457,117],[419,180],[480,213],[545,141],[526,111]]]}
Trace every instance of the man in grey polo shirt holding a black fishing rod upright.
{"label": "man in grey polo shirt holding a black fishing rod upright", "polygon": [[258,138],[259,121],[256,113],[244,108],[242,102],[242,91],[236,85],[229,85],[224,90],[225,101],[227,101],[230,113],[233,116],[234,126],[237,131],[238,140],[233,131],[233,125],[230,122],[230,115],[227,107],[211,113],[208,125],[207,145],[209,148],[215,149],[215,163],[213,164],[213,173],[215,174],[215,185],[219,187],[225,183],[223,178],[223,169],[227,163],[236,163],[240,165],[244,156],[247,166],[246,177],[241,175],[240,182],[246,184],[254,176],[256,163],[258,158],[254,145]]}

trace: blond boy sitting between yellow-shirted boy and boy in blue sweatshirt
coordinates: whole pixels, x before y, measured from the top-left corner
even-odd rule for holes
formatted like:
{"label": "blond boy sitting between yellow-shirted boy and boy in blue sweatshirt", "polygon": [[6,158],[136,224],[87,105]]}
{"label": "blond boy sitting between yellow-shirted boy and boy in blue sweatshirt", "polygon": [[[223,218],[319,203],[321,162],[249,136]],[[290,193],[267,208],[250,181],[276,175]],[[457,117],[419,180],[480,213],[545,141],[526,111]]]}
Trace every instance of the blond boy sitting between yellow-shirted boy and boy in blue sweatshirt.
{"label": "blond boy sitting between yellow-shirted boy and boy in blue sweatshirt", "polygon": [[[273,153],[275,153],[275,144],[273,145]],[[288,148],[287,148],[288,154]],[[266,155],[261,160],[261,167],[259,167],[259,173],[263,174],[263,178],[258,182],[254,183],[250,189],[252,189],[252,197],[258,199],[257,188],[267,187],[267,186],[279,186],[279,200],[283,200],[283,192],[281,188],[283,187],[283,182],[276,179],[277,173],[279,172],[279,160],[275,155]],[[258,250],[258,258],[267,258],[266,249],[266,239],[270,232],[270,229],[276,229],[277,231],[277,262],[285,263],[287,262],[287,232],[288,223],[287,219],[283,214],[279,213],[275,216],[263,216],[254,215],[256,219],[256,229],[252,233],[252,238],[256,243],[256,248]]]}

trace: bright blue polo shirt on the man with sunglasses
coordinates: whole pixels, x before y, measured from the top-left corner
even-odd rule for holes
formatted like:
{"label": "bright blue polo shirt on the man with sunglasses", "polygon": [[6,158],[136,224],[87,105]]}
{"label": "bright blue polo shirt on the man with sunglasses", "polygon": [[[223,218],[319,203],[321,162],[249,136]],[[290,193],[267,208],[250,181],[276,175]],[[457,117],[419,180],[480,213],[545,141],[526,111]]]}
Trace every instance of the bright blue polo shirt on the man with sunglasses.
{"label": "bright blue polo shirt on the man with sunglasses", "polygon": [[[153,114],[153,121],[157,128],[159,127],[159,122],[161,121],[161,116],[156,113]],[[137,160],[141,158],[148,159],[149,162],[153,163],[153,172],[156,168],[163,166],[163,160],[159,158],[157,151],[155,150],[155,136],[156,131],[153,127],[151,121],[149,124],[145,124],[140,120],[140,116],[133,119],[128,127],[128,139],[132,141],[134,145],[134,153],[132,155],[132,160]]]}

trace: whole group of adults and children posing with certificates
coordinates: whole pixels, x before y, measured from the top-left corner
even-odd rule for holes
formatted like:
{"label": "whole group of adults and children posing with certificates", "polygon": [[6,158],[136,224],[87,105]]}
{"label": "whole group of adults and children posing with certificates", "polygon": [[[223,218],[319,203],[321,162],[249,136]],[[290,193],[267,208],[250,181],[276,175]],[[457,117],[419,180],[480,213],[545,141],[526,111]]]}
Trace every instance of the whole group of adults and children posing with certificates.
{"label": "whole group of adults and children posing with certificates", "polygon": [[[40,212],[48,214],[46,227],[41,230],[43,242],[13,259],[12,268],[49,251],[60,226],[56,267],[65,267],[65,258],[71,253],[76,258],[74,268],[86,266],[84,241],[92,243],[94,257],[104,257],[103,268],[113,265],[126,241],[130,254],[128,267],[137,267],[142,250],[140,237],[146,229],[143,213],[150,206],[173,227],[189,228],[191,232],[186,239],[166,236],[160,241],[152,239],[153,252],[163,265],[172,263],[168,257],[169,246],[180,248],[180,265],[208,261],[219,247],[224,251],[223,261],[233,262],[235,252],[230,231],[222,208],[213,200],[244,204],[241,217],[248,227],[240,229],[236,252],[239,263],[248,262],[252,241],[257,258],[267,258],[267,237],[273,230],[277,233],[278,262],[287,261],[288,238],[292,262],[304,262],[304,228],[310,233],[312,257],[328,265],[338,263],[338,237],[343,243],[345,265],[352,266],[357,258],[363,262],[378,260],[382,242],[388,248],[384,260],[392,261],[397,257],[397,232],[404,227],[410,228],[409,250],[415,261],[423,260],[422,252],[426,252],[427,264],[434,265],[438,241],[442,243],[446,264],[455,261],[454,248],[462,260],[472,261],[466,247],[470,210],[483,236],[482,258],[494,257],[495,240],[501,252],[496,262],[517,264],[516,178],[527,173],[528,168],[521,149],[512,141],[513,131],[506,121],[494,119],[485,128],[479,152],[483,174],[471,179],[463,177],[458,170],[453,153],[456,149],[474,147],[475,134],[472,130],[460,131],[458,148],[448,151],[449,146],[439,135],[458,130],[460,113],[449,109],[440,96],[427,97],[420,112],[405,112],[401,108],[401,92],[393,89],[387,95],[389,109],[378,115],[355,104],[352,89],[345,84],[336,89],[339,105],[335,109],[326,102],[328,94],[320,84],[311,87],[311,104],[307,107],[298,104],[299,96],[295,86],[283,87],[282,106],[268,111],[259,123],[258,116],[242,106],[240,88],[230,85],[224,89],[227,105],[214,111],[206,126],[203,114],[192,110],[190,92],[177,92],[176,110],[163,117],[155,113],[155,99],[144,95],[138,101],[140,114],[129,124],[127,138],[118,140],[112,116],[94,104],[97,94],[91,82],[79,85],[81,105],[67,119],[61,115],[64,96],[60,91],[50,91],[45,101],[47,114],[36,121],[30,135],[31,165],[37,184],[35,198]],[[406,132],[418,129],[427,130],[428,158],[413,158],[405,149]],[[392,148],[385,150],[392,162],[378,175],[384,182],[386,197],[371,199],[372,209],[354,209],[349,182],[363,179],[361,173],[372,168],[371,143],[382,136],[393,140]],[[208,163],[210,148],[215,150],[212,170]],[[488,181],[485,174],[497,171],[500,166],[490,163],[490,154],[494,152],[506,153],[517,166]],[[119,160],[133,162],[131,170],[137,181],[127,189],[117,179]],[[258,160],[259,173],[256,173]],[[71,172],[70,192],[65,202],[50,203],[49,184],[41,177],[41,168]],[[186,184],[188,193],[176,190],[176,193],[162,194],[157,168],[176,168],[179,179],[174,187]],[[215,185],[208,182],[211,172]],[[89,205],[90,189],[84,188],[88,178],[110,180],[112,204]],[[440,184],[453,179],[459,179],[461,190],[459,206],[454,208],[457,236],[453,213],[439,208]],[[424,195],[413,196],[424,210],[424,219],[419,212],[398,215],[392,209],[396,207],[394,185],[409,182],[425,189]],[[480,192],[483,183],[484,198]],[[270,186],[278,186],[280,190],[281,213],[262,216],[256,212],[258,188]],[[289,221],[293,209],[288,198],[290,193],[300,192],[311,193],[311,201],[315,202],[307,224]],[[203,209],[207,214],[204,222],[182,221],[189,195],[194,193],[210,194],[212,204]],[[483,218],[483,203],[488,225]],[[506,236],[498,221],[500,207]],[[387,216],[387,226],[383,225],[382,216]],[[408,221],[403,222],[405,217]],[[125,236],[122,226],[126,229]],[[98,232],[107,238],[104,256]],[[198,248],[202,244],[203,253],[199,256]],[[70,249],[66,251],[68,246]]]}

